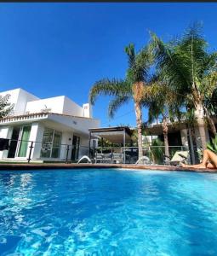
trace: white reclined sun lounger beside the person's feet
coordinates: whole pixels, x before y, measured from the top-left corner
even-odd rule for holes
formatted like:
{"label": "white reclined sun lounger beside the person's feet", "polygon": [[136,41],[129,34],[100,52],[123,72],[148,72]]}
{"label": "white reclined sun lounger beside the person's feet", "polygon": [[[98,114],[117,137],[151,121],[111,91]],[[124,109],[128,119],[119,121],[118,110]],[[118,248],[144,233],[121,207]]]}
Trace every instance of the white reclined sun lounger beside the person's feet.
{"label": "white reclined sun lounger beside the person's feet", "polygon": [[188,151],[176,151],[172,159],[164,154],[164,165],[169,166],[180,166],[181,163],[189,162],[189,152]]}

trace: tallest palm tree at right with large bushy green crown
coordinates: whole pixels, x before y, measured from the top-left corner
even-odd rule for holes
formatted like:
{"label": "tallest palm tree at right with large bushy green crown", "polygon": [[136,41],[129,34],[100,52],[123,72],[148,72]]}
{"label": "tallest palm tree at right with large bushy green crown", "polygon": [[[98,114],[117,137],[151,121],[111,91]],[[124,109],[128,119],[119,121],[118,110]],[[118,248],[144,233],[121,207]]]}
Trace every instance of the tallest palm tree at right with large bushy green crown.
{"label": "tallest palm tree at right with large bushy green crown", "polygon": [[211,131],[215,126],[205,106],[205,98],[216,88],[216,53],[208,53],[207,42],[200,28],[191,26],[184,35],[168,44],[151,33],[157,69],[167,78],[168,85],[182,96],[188,108],[195,109],[203,149],[206,148],[205,118]]}

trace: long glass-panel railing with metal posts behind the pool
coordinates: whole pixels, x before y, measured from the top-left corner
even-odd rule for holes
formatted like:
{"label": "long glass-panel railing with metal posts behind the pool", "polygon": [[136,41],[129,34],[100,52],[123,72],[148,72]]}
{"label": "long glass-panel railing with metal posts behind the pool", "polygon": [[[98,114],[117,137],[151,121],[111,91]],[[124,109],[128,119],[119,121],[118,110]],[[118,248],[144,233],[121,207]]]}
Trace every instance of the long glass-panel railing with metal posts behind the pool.
{"label": "long glass-panel railing with metal posts behind the pool", "polygon": [[[32,160],[77,162],[83,155],[88,155],[95,163],[123,163],[134,164],[139,160],[138,147],[106,147],[89,148],[85,145],[72,145],[67,143],[49,143],[30,140],[9,139],[8,150],[0,154],[2,160]],[[0,145],[1,148],[1,145]],[[187,151],[184,146],[169,146],[170,160],[177,151]],[[1,152],[1,151],[0,151]],[[165,159],[164,146],[148,146],[142,148],[142,161],[146,165],[163,165],[169,163]]]}

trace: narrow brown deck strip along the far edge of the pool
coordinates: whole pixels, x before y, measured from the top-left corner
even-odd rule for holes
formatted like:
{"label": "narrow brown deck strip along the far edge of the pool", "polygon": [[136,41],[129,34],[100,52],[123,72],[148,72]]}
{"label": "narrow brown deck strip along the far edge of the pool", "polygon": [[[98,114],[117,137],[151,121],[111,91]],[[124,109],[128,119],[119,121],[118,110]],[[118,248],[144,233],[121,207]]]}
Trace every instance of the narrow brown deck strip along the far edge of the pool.
{"label": "narrow brown deck strip along the far edge of the pool", "polygon": [[159,171],[180,171],[180,172],[216,172],[217,169],[194,169],[183,168],[177,166],[145,166],[145,165],[123,165],[123,164],[65,164],[65,163],[1,163],[0,171],[13,170],[48,170],[48,169],[87,169],[87,168],[122,168],[122,169],[136,169],[136,170],[159,170]]}

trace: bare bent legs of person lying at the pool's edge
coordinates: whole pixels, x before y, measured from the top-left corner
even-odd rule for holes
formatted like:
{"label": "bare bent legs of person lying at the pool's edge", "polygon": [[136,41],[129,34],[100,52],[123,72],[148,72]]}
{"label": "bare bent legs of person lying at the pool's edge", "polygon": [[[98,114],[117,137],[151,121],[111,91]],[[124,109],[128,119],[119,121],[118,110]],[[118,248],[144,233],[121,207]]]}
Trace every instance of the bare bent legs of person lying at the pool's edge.
{"label": "bare bent legs of person lying at the pool's edge", "polygon": [[217,169],[217,154],[213,151],[205,149],[203,151],[203,161],[198,165],[185,165],[181,164],[182,167],[191,167],[196,169]]}

